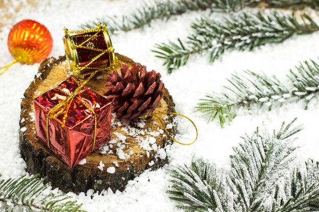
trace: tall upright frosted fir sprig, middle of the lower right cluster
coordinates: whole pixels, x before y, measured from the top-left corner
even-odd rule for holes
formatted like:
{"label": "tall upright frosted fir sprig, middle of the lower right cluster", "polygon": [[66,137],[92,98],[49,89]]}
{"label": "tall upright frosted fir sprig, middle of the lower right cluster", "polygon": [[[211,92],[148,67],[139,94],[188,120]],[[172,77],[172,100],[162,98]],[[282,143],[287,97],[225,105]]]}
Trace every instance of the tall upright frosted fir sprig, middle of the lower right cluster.
{"label": "tall upright frosted fir sprig, middle of the lower right cluster", "polygon": [[264,196],[269,196],[279,178],[295,160],[291,154],[294,147],[289,139],[303,130],[302,126],[290,129],[296,119],[285,126],[282,124],[278,133],[257,131],[244,138],[244,143],[233,147],[230,156],[232,181],[238,190],[238,201],[244,211],[254,211],[260,206]]}

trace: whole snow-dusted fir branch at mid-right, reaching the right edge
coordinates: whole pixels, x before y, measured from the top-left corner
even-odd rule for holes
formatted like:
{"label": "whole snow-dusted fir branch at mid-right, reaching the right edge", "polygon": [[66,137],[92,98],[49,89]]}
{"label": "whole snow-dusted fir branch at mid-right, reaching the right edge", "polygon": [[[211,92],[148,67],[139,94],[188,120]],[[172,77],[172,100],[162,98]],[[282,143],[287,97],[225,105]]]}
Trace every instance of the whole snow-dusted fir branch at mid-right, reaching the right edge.
{"label": "whole snow-dusted fir branch at mid-right, reaching the right edge", "polygon": [[307,103],[319,92],[319,65],[313,60],[301,63],[297,71],[290,70],[287,75],[293,87],[286,87],[284,82],[275,76],[267,76],[252,71],[244,74],[232,74],[221,94],[207,94],[200,99],[196,110],[209,116],[209,120],[219,118],[221,127],[236,115],[240,107],[249,108],[279,105],[293,100],[305,99]]}

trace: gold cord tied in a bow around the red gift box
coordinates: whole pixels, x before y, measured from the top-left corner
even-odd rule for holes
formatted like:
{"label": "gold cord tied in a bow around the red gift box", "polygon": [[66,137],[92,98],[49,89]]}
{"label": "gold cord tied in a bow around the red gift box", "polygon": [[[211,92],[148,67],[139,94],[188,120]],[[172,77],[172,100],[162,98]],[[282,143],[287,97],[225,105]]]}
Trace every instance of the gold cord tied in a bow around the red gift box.
{"label": "gold cord tied in a bow around the red gift box", "polygon": [[88,108],[92,114],[94,115],[94,140],[93,140],[93,147],[92,147],[92,150],[94,150],[95,148],[95,142],[96,142],[96,128],[97,128],[97,117],[96,117],[96,113],[94,112],[94,110],[87,104],[85,103],[84,101],[82,101],[81,99],[79,99],[77,97],[77,95],[79,94],[82,94],[84,92],[86,92],[87,88],[86,89],[82,89],[85,84],[97,73],[98,71],[95,71],[94,73],[91,74],[90,77],[88,77],[86,80],[82,81],[81,84],[78,83],[77,79],[75,79],[73,76],[71,76],[74,81],[76,82],[76,84],[78,85],[78,87],[74,90],[74,92],[72,94],[68,94],[67,92],[65,92],[63,89],[61,88],[56,88],[58,89],[60,92],[62,92],[63,94],[65,95],[68,95],[68,97],[64,100],[62,100],[61,102],[59,102],[56,106],[52,107],[50,109],[50,111],[48,112],[47,116],[46,116],[46,138],[47,138],[47,145],[48,147],[50,147],[50,140],[49,140],[49,118],[51,119],[55,119],[57,118],[58,116],[60,116],[63,112],[64,115],[63,115],[63,118],[62,118],[62,127],[65,126],[65,123],[66,123],[66,119],[67,119],[67,116],[68,116],[68,111],[69,111],[69,108],[71,106],[71,103],[73,102],[74,98],[76,98],[77,100],[81,101],[84,106],[86,108]]}

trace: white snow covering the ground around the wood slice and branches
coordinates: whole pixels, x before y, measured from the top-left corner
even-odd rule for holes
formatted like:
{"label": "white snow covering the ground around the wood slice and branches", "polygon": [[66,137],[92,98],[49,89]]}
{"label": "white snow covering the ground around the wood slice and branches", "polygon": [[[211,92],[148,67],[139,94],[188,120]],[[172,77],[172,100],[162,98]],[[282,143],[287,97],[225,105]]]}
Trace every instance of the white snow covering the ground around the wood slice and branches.
{"label": "white snow covering the ground around the wood slice and branches", "polygon": [[[9,2],[9,1],[8,1]],[[8,3],[5,1],[5,3]],[[1,9],[0,16],[12,14],[11,19],[1,17],[4,27],[0,31],[0,64],[7,65],[12,57],[7,49],[7,36],[11,26],[24,19],[34,19],[47,26],[54,39],[54,48],[50,56],[57,57],[64,54],[62,37],[63,27],[70,30],[78,29],[78,25],[101,17],[104,14],[122,15],[134,11],[141,1],[137,0],[83,0],[83,1],[35,1],[37,7],[29,6],[26,2],[8,3],[13,6],[20,4],[21,9]],[[252,10],[247,10],[251,12]],[[189,116],[196,123],[199,130],[198,141],[191,146],[182,146],[174,143],[168,149],[169,164],[157,171],[146,171],[140,177],[131,180],[124,192],[111,191],[104,194],[75,195],[69,193],[79,203],[84,203],[83,208],[88,211],[178,211],[175,202],[165,193],[169,176],[166,168],[174,164],[189,164],[194,155],[214,161],[221,168],[229,169],[229,155],[232,146],[241,142],[240,136],[251,133],[262,122],[269,130],[279,129],[283,120],[289,122],[298,117],[297,124],[304,124],[305,130],[298,134],[295,141],[298,146],[296,153],[300,160],[312,158],[319,160],[319,104],[318,99],[313,99],[304,110],[305,103],[290,103],[283,107],[275,107],[272,111],[262,109],[258,111],[241,110],[230,126],[220,128],[218,121],[207,123],[207,117],[195,113],[194,107],[198,99],[205,93],[214,90],[221,91],[226,85],[226,78],[231,73],[252,70],[255,72],[275,74],[279,79],[286,80],[285,75],[290,68],[306,59],[317,59],[319,56],[319,32],[306,36],[294,36],[282,44],[265,45],[252,52],[228,51],[214,64],[208,63],[208,55],[192,56],[187,66],[181,67],[171,75],[166,73],[162,60],[155,58],[151,49],[155,43],[175,40],[176,37],[185,38],[192,31],[190,23],[208,12],[192,12],[173,17],[169,21],[156,20],[151,26],[137,29],[129,33],[111,35],[114,48],[117,52],[127,55],[148,69],[161,72],[163,81],[169,89],[176,104],[178,113]],[[223,14],[211,15],[216,20]],[[318,21],[316,13],[312,13]],[[8,17],[8,16],[6,16]],[[24,90],[29,86],[37,73],[39,64],[15,64],[4,75],[0,76],[0,173],[4,178],[27,174],[25,163],[19,152],[18,134],[20,102]],[[286,81],[289,84],[288,81]],[[195,131],[185,119],[178,119],[179,129],[177,140],[192,141]],[[93,195],[93,196],[92,196]]]}

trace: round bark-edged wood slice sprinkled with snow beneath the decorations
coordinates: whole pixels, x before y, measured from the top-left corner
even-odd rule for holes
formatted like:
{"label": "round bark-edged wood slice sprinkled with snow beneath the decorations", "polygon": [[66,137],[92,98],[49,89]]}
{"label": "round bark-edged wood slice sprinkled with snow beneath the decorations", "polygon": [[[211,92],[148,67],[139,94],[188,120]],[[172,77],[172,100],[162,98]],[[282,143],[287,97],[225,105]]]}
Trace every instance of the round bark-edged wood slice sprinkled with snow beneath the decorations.
{"label": "round bark-edged wood slice sprinkled with snow beneath the decorations", "polygon": [[[134,64],[130,58],[116,55],[119,58],[119,67],[124,64],[131,67]],[[87,84],[88,88],[103,95],[107,74],[98,73]],[[86,158],[85,164],[78,164],[71,169],[58,159],[35,135],[33,99],[56,87],[69,75],[65,56],[48,58],[40,65],[34,81],[25,90],[21,102],[19,139],[21,155],[30,173],[47,176],[53,187],[59,187],[64,192],[79,193],[89,189],[102,191],[108,188],[123,191],[128,180],[146,169],[154,170],[167,162],[164,148],[171,141],[155,117],[139,122],[120,121],[112,117],[112,142],[95,150]],[[175,112],[173,99],[166,88],[164,97],[154,112]],[[174,116],[162,115],[161,118],[174,136]],[[100,162],[104,164],[103,168],[98,168]],[[109,173],[109,167],[115,167],[115,172]]]}

